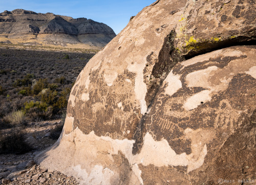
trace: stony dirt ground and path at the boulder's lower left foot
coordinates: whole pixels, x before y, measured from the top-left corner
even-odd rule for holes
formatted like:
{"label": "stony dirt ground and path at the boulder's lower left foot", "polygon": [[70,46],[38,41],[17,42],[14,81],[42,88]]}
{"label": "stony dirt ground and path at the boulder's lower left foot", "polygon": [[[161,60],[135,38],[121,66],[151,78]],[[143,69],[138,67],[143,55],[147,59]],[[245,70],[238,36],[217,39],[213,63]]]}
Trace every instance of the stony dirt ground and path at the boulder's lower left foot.
{"label": "stony dirt ground and path at the boulder's lower left foot", "polygon": [[29,123],[24,131],[27,133],[26,142],[33,150],[20,155],[0,155],[0,184],[78,184],[74,177],[47,171],[33,161],[35,155],[57,141],[50,137],[50,133],[62,126],[62,120]]}

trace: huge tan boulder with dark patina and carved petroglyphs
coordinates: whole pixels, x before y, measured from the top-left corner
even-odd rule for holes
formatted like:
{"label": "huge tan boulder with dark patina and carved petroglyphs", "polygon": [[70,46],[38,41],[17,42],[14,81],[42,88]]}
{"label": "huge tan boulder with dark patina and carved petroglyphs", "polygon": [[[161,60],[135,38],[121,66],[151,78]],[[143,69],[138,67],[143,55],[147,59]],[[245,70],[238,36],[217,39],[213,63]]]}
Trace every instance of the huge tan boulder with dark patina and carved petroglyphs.
{"label": "huge tan boulder with dark patina and carved petroglyphs", "polygon": [[230,42],[224,30],[236,27],[221,22],[201,35],[223,33],[227,42],[218,48],[216,40],[207,49],[193,42],[186,50],[179,35],[183,20],[189,30],[199,13],[208,16],[209,6],[197,8],[201,1],[157,1],[131,19],[79,74],[62,135],[37,161],[83,184],[255,179],[255,32],[240,20],[243,10],[253,15],[254,4],[226,1],[219,10],[218,2],[208,2],[215,22],[221,10],[244,7],[227,18],[238,22],[243,37]]}

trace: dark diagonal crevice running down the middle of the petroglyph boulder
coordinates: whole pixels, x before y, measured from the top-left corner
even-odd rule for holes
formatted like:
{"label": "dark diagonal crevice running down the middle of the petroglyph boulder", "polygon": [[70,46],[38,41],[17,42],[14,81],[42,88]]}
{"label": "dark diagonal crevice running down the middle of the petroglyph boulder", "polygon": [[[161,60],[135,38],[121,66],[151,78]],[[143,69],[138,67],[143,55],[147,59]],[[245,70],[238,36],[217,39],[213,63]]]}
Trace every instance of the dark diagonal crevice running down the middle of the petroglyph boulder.
{"label": "dark diagonal crevice running down the middle of the petroglyph boulder", "polygon": [[[154,100],[156,94],[158,93],[159,88],[161,87],[164,79],[172,70],[172,68],[181,61],[184,61],[184,57],[182,57],[178,50],[174,47],[174,39],[176,37],[175,30],[172,30],[165,38],[164,43],[159,51],[158,60],[156,61],[152,73],[150,82],[147,84],[147,93],[145,97],[147,108],[150,107],[152,101]],[[152,63],[152,56],[147,56],[147,62]],[[146,66],[147,67],[147,66]],[[145,67],[145,68],[146,68]],[[145,69],[144,69],[145,71]],[[144,77],[145,82],[145,77]],[[144,123],[146,120],[147,114],[143,115],[140,122],[138,123],[137,130],[133,136],[133,140],[135,140],[135,144],[133,146],[133,154],[139,153],[141,147],[143,146],[143,138],[146,134],[146,129],[144,127]]]}

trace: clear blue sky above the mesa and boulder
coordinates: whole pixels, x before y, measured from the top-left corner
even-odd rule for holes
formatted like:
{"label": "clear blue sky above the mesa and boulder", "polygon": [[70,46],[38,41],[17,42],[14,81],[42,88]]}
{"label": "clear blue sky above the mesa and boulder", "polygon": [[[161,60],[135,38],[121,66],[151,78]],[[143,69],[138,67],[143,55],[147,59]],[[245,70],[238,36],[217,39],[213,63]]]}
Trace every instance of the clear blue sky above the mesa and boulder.
{"label": "clear blue sky above the mesa and boulder", "polygon": [[73,18],[86,17],[108,24],[118,34],[130,17],[156,0],[0,0],[0,12],[14,9],[31,10],[37,13],[51,12]]}

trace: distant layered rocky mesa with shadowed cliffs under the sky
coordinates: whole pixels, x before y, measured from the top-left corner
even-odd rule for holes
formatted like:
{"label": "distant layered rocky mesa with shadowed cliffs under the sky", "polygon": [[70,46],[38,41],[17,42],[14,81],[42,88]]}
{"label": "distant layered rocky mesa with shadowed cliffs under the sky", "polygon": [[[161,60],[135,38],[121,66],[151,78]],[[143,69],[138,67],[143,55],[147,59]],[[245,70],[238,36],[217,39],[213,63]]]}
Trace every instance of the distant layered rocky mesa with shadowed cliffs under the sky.
{"label": "distant layered rocky mesa with shadowed cliffs under the sky", "polygon": [[0,42],[101,48],[116,34],[106,24],[23,9],[0,13]]}

